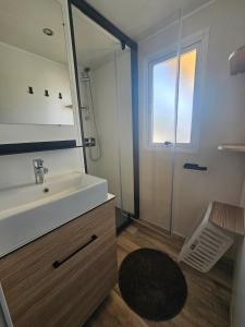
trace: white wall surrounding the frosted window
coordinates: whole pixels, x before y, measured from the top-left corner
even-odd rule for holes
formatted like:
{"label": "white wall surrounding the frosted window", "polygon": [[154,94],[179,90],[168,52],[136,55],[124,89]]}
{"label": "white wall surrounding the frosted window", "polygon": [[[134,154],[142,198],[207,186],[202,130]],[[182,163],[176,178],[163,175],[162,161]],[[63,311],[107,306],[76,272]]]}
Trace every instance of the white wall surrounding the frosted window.
{"label": "white wall surrounding the frosted window", "polygon": [[[176,43],[171,25],[139,44],[140,217],[169,227],[171,154],[147,146],[146,58]],[[245,2],[217,0],[183,21],[183,38],[209,31],[206,77],[199,97],[199,145],[193,153],[176,153],[174,232],[187,235],[201,219],[209,201],[240,204],[245,174],[244,156],[220,153],[221,143],[245,142],[245,77],[230,76],[229,55],[244,45]],[[183,170],[184,162],[207,166],[207,172]]]}

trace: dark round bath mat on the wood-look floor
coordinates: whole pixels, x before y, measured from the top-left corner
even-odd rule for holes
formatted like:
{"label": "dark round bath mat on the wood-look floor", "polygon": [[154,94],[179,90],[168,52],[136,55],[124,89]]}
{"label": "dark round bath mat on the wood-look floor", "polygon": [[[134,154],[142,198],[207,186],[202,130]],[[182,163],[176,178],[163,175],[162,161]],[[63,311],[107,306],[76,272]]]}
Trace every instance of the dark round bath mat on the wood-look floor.
{"label": "dark round bath mat on the wood-look floor", "polygon": [[124,258],[119,288],[134,312],[155,322],[177,315],[187,296],[187,284],[177,264],[152,249],[136,250]]}

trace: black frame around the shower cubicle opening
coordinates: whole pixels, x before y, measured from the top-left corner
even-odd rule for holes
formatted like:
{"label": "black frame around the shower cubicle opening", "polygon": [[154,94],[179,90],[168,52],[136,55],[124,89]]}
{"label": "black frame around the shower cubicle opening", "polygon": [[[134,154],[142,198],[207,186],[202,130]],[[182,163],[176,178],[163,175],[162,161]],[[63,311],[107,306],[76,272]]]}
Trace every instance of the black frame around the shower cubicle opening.
{"label": "black frame around the shower cubicle opening", "polygon": [[[134,167],[134,207],[135,215],[132,218],[139,218],[139,159],[138,159],[138,46],[137,43],[121,32],[114,24],[100,14],[94,7],[84,0],[68,0],[69,19],[73,49],[73,62],[76,80],[76,93],[78,97],[78,108],[81,108],[81,97],[78,87],[77,60],[75,50],[75,36],[72,16],[72,5],[76,7],[83,14],[97,23],[100,27],[118,38],[122,44],[122,49],[127,46],[131,49],[131,80],[132,80],[132,121],[133,121],[133,167]],[[79,110],[79,124],[82,142],[84,144],[83,119]],[[87,173],[86,152],[84,150],[85,172]]]}

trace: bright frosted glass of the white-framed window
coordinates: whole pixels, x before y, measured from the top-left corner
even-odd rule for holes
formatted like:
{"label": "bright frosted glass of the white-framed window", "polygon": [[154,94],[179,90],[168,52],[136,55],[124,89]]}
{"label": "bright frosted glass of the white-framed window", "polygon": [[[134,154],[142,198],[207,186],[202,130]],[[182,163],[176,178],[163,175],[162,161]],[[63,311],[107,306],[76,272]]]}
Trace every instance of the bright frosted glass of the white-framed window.
{"label": "bright frosted glass of the white-framed window", "polygon": [[[151,114],[154,143],[174,142],[176,57],[152,66]],[[184,52],[180,63],[176,143],[191,143],[196,49]]]}

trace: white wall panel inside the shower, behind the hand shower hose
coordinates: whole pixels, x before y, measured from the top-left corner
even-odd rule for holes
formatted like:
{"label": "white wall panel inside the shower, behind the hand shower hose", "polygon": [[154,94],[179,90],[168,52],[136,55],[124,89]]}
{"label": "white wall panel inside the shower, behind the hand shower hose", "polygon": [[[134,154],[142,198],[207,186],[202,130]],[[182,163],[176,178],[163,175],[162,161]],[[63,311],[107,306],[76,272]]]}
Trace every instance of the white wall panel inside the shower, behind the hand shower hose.
{"label": "white wall panel inside the shower, behind the hand shower hose", "polygon": [[[91,87],[94,110],[99,134],[98,137],[101,146],[101,158],[98,161],[91,161],[88,152],[91,150],[93,157],[96,157],[98,149],[87,149],[88,171],[91,172],[91,174],[106,178],[108,180],[109,192],[117,195],[117,206],[120,207],[121,191],[119,183],[117,84],[113,61],[107,62],[99,69],[91,72]],[[93,114],[90,114],[90,118],[93,120]],[[94,128],[91,121],[85,121],[85,126],[88,123],[91,128]],[[87,132],[87,135],[85,136],[90,136],[90,132],[91,130]],[[94,134],[94,136],[96,135]]]}

